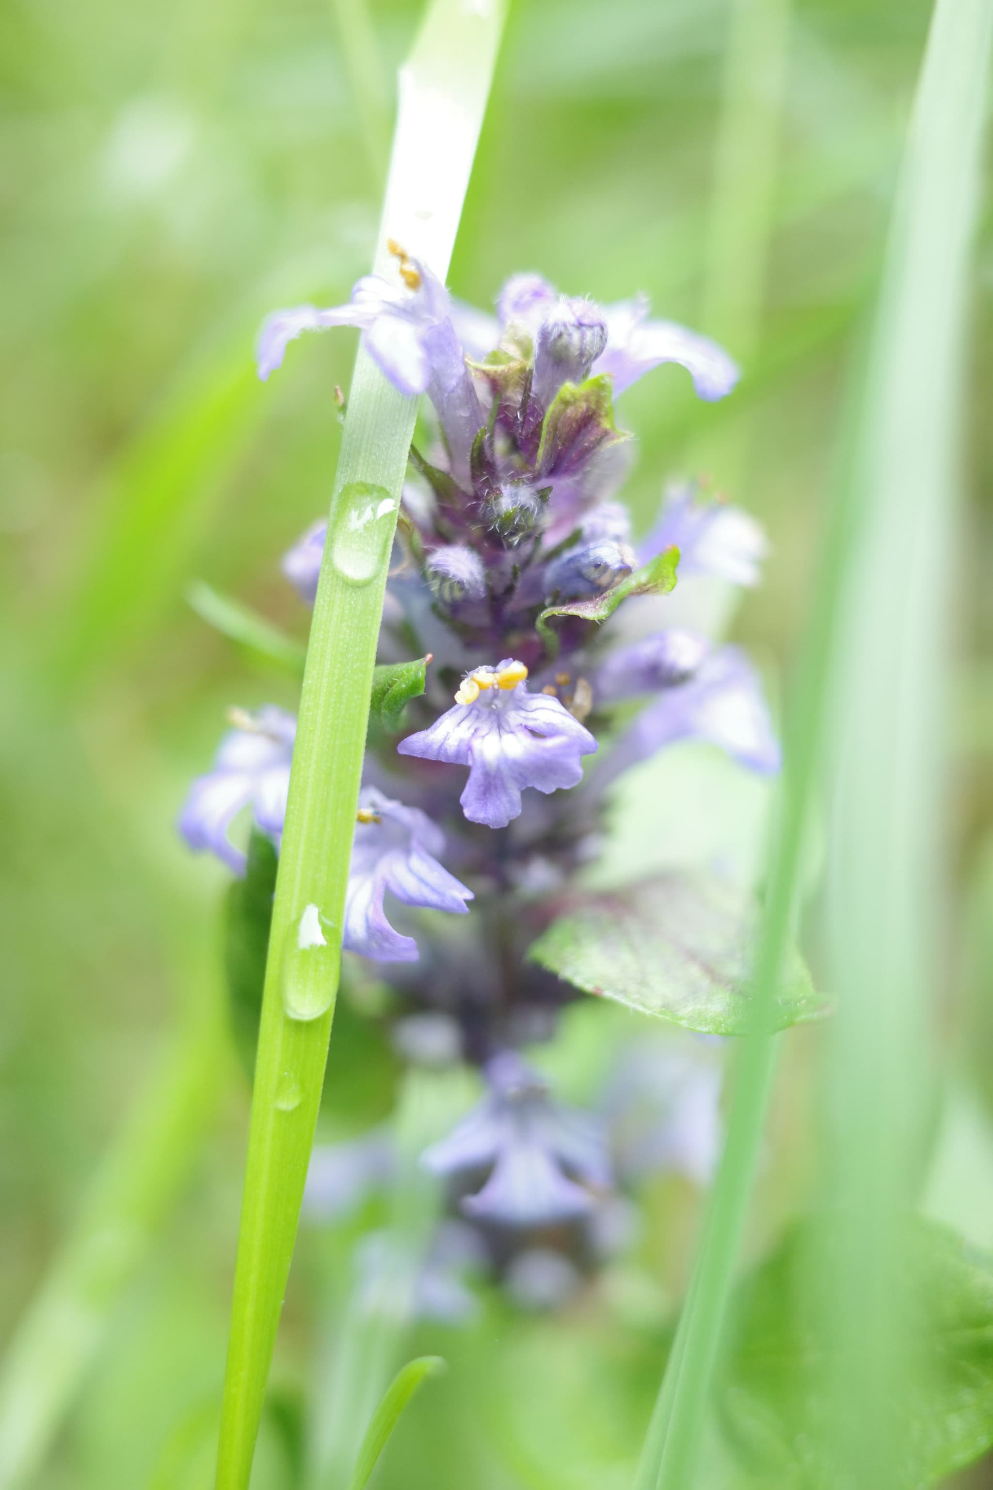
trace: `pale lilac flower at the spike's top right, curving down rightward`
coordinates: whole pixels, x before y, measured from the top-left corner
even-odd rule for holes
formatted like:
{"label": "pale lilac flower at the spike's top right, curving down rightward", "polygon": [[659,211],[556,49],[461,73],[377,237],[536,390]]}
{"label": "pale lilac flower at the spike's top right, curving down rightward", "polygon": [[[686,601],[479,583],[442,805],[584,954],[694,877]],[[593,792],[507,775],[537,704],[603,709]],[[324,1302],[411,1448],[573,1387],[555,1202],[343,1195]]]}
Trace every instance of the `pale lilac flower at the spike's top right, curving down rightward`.
{"label": "pale lilac flower at the spike's top right, curving down rightward", "polygon": [[716,341],[674,320],[649,320],[645,295],[606,305],[604,316],[607,347],[593,371],[609,372],[615,393],[622,393],[662,362],[685,367],[697,396],[707,402],[725,398],[738,381],[737,364]]}

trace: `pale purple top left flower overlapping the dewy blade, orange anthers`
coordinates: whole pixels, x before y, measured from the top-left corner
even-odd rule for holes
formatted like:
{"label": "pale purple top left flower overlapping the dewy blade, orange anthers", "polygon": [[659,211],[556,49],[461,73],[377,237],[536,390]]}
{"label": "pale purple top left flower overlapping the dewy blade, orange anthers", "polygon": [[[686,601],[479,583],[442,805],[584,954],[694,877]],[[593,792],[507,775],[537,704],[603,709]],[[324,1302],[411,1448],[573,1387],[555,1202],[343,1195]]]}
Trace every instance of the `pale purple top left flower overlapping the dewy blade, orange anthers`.
{"label": "pale purple top left flower overlapping the dewy blade, orange anthers", "polygon": [[296,305],[269,316],[259,335],[259,377],[268,378],[281,365],[287,343],[301,332],[357,326],[365,332],[366,350],[400,393],[408,398],[430,395],[448,441],[453,471],[464,480],[472,441],[484,420],[451,323],[448,291],[399,246],[393,244],[392,252],[399,259],[402,285],[366,274],[347,305],[331,310]]}

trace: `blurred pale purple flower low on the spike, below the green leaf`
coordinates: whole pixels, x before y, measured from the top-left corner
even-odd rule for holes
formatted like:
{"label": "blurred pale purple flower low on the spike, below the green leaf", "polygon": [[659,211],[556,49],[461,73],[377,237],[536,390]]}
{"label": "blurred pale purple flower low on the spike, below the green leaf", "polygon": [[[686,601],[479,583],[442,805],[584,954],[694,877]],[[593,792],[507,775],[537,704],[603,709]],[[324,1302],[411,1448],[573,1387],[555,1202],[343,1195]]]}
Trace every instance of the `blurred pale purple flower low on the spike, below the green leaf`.
{"label": "blurred pale purple flower low on the spike, below the green leaf", "polygon": [[597,1119],[552,1103],[543,1080],[505,1050],[485,1067],[488,1095],[423,1155],[436,1174],[472,1177],[488,1170],[462,1208],[502,1226],[542,1226],[591,1211],[593,1189],[610,1183]]}

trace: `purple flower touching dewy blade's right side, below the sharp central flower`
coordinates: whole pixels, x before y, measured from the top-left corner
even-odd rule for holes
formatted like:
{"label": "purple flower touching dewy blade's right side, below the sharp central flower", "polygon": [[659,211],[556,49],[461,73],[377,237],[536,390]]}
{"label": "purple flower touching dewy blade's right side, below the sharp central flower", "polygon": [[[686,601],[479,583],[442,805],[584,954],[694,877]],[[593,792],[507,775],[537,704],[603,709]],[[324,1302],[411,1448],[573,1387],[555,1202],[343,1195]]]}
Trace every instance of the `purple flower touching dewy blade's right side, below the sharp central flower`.
{"label": "purple flower touching dewy blade's right side, below the sharp central flower", "polygon": [[375,787],[359,794],[342,946],[381,963],[415,963],[417,942],[386,919],[389,891],[405,906],[464,915],[472,891],[438,863],[445,836],[420,808],[405,808]]}

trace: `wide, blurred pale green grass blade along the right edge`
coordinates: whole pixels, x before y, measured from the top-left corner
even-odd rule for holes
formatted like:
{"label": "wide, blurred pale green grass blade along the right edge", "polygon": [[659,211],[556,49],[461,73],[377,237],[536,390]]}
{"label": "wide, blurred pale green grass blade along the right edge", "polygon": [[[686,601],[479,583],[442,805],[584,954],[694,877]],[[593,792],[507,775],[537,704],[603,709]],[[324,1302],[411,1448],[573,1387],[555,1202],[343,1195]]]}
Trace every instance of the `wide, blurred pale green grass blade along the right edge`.
{"label": "wide, blurred pale green grass blade along the right edge", "polygon": [[[820,1262],[837,1347],[828,1453],[858,1484],[905,1484],[913,1286],[896,1265],[917,1201],[942,991],[963,329],[993,4],[938,0],[907,139],[852,459],[861,513],[831,730]],[[837,1250],[835,1250],[837,1249]]]}

